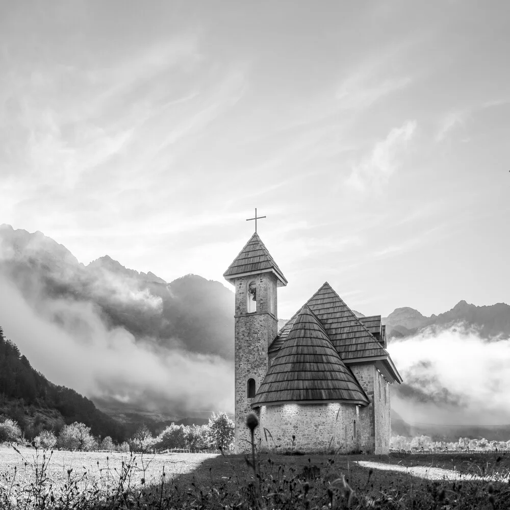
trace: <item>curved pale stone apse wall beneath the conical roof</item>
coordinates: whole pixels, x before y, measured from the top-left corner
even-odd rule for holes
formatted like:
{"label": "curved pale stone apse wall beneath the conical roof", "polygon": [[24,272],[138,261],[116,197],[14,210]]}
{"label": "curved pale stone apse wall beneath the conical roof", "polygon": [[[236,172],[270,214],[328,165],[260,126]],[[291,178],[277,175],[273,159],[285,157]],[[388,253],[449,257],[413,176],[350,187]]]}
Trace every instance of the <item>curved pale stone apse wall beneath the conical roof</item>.
{"label": "curved pale stone apse wall beneath the conical roof", "polygon": [[266,441],[261,431],[261,449],[280,447],[302,452],[338,450],[340,453],[356,450],[360,437],[360,415],[356,407],[359,412],[359,406],[347,403],[263,405],[260,425],[271,433],[272,439],[268,435]]}

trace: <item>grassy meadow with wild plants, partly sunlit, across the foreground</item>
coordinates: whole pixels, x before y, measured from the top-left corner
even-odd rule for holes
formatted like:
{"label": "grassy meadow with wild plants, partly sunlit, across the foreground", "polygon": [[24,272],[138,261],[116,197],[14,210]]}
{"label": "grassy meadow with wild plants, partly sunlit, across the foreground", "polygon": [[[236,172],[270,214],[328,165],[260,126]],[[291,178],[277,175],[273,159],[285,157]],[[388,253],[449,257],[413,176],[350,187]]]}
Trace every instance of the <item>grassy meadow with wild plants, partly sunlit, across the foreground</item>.
{"label": "grassy meadow with wild plants, partly sunlit, across the foreground", "polygon": [[251,455],[0,448],[0,507],[490,508],[510,506],[507,454]]}

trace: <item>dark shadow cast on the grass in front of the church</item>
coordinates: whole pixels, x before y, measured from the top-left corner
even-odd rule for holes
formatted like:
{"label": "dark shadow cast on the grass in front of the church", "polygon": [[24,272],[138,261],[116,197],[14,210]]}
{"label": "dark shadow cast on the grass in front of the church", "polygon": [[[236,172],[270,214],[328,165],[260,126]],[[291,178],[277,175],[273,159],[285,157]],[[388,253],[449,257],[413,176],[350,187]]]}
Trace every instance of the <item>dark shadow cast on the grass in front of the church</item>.
{"label": "dark shadow cast on the grass in front of the church", "polygon": [[[243,455],[218,456],[152,487],[145,501],[149,508],[508,508],[506,463],[494,462],[488,472],[486,458],[467,458],[456,478],[446,458],[421,461],[432,465],[416,466],[412,456],[260,454],[253,470]],[[441,469],[452,476],[436,476]],[[481,474],[467,479],[470,469]]]}

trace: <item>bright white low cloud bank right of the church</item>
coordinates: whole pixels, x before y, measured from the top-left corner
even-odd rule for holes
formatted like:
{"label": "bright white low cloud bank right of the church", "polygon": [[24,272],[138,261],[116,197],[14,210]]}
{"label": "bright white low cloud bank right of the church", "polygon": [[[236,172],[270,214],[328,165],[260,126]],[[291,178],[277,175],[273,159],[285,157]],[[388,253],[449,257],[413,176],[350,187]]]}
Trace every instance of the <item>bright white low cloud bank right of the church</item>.
{"label": "bright white low cloud bank right of the church", "polygon": [[455,326],[393,341],[388,351],[404,379],[392,393],[392,408],[404,420],[510,423],[508,340],[482,340],[476,330]]}

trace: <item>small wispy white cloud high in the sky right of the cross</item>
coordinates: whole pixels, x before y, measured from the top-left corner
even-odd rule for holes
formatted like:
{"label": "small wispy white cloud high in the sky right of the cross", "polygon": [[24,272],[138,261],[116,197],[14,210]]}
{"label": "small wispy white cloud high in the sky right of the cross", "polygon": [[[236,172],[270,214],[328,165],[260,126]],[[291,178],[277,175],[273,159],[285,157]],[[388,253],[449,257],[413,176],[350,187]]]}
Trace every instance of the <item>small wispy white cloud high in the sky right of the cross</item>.
{"label": "small wispy white cloud high in the sky right of the cross", "polygon": [[415,131],[415,120],[394,127],[384,140],[375,144],[368,158],[353,167],[347,184],[355,190],[364,191],[385,183],[398,168],[399,152],[412,139]]}

